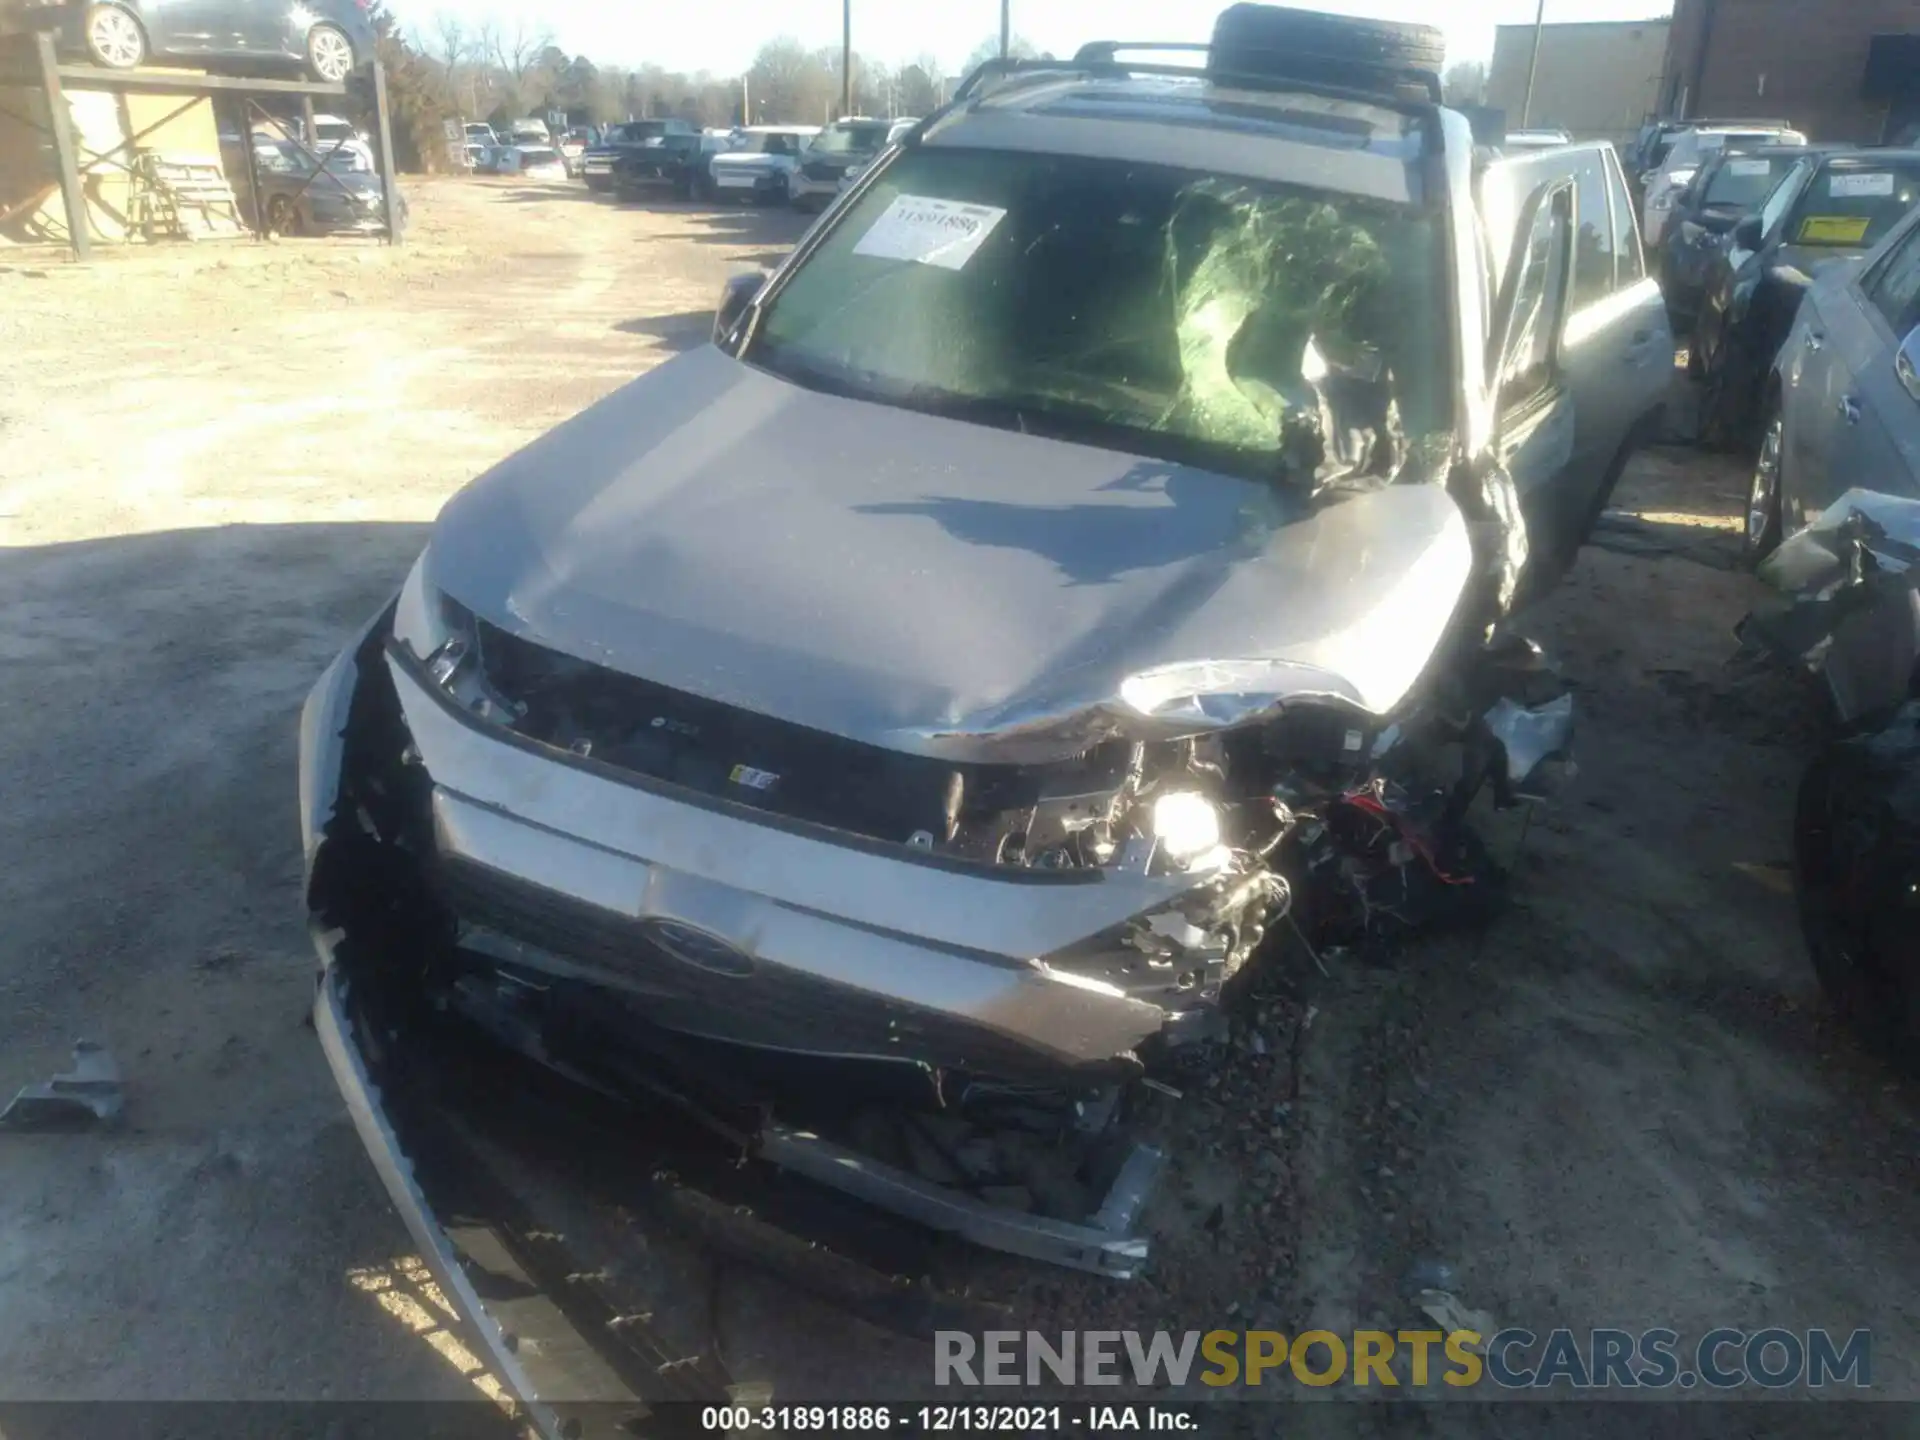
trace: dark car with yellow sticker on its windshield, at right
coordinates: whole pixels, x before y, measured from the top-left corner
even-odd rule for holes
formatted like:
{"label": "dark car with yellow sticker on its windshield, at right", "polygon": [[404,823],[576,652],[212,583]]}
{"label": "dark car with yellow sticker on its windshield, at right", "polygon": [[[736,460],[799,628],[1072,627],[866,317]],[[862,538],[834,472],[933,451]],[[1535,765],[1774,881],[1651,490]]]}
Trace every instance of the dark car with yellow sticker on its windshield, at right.
{"label": "dark car with yellow sticker on its windshield, at right", "polygon": [[1920,150],[1816,152],[1734,225],[1709,271],[1690,353],[1703,444],[1753,449],[1763,382],[1807,288],[1878,246],[1916,202]]}

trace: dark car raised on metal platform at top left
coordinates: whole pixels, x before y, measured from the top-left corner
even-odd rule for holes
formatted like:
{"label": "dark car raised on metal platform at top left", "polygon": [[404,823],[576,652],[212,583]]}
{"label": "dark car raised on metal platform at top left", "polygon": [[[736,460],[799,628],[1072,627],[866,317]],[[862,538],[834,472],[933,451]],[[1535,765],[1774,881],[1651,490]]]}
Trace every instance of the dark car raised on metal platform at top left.
{"label": "dark car raised on metal platform at top left", "polygon": [[338,83],[372,60],[371,0],[69,0],[54,10],[61,44],[108,69],[257,60]]}

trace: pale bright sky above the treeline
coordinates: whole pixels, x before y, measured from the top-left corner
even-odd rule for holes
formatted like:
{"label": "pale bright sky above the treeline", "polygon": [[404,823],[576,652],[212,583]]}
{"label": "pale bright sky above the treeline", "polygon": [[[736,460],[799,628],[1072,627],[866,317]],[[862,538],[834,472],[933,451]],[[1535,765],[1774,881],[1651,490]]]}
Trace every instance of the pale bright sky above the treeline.
{"label": "pale bright sky above the treeline", "polygon": [[[676,71],[737,75],[753,52],[787,35],[808,48],[837,46],[841,0],[388,0],[403,25],[426,31],[436,15],[547,27],[555,44],[607,65],[655,63]],[[852,48],[887,63],[933,54],[950,75],[973,48],[1000,33],[998,0],[851,0]],[[1041,50],[1071,54],[1087,40],[1206,40],[1227,0],[1010,0],[1014,35]],[[1538,0],[1311,0],[1379,19],[1425,21],[1444,12],[1448,63],[1488,60],[1496,25],[1530,25]],[[1672,0],[1546,0],[1548,23],[1651,19]]]}

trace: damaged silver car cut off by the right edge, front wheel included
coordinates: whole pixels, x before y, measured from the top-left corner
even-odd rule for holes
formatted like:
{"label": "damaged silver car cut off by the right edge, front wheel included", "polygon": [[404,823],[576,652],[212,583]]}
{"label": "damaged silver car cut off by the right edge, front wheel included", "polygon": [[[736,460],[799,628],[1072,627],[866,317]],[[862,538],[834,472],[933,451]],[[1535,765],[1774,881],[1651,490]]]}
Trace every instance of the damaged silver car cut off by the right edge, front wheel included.
{"label": "damaged silver car cut off by the right edge, front wheel included", "polygon": [[[1841,405],[1834,403],[1841,396]],[[1820,684],[1793,877],[1834,1006],[1920,1069],[1920,211],[1814,282],[1768,380],[1747,549],[1755,655]],[[1872,488],[1868,488],[1872,486]]]}

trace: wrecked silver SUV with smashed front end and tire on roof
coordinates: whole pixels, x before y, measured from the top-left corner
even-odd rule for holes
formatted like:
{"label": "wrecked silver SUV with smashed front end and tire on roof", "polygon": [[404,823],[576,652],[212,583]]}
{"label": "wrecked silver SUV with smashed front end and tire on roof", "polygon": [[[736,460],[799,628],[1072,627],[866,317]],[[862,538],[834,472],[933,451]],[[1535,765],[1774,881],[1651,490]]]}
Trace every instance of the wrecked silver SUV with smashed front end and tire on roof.
{"label": "wrecked silver SUV with smashed front end and tire on roof", "polygon": [[1659,403],[1609,326],[1665,319],[1611,148],[1490,227],[1519,173],[1438,61],[1260,6],[1206,63],[989,61],[714,344],[455,495],[323,676],[317,1027],[516,1388],[436,1127],[568,1137],[492,1165],[538,1210],[691,1121],[735,1181],[1121,1279],[1131,1119],[1225,1064],[1236,979],[1484,914],[1467,808],[1572,722],[1511,614]]}

